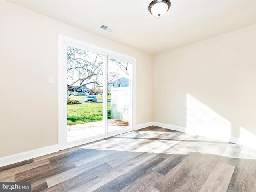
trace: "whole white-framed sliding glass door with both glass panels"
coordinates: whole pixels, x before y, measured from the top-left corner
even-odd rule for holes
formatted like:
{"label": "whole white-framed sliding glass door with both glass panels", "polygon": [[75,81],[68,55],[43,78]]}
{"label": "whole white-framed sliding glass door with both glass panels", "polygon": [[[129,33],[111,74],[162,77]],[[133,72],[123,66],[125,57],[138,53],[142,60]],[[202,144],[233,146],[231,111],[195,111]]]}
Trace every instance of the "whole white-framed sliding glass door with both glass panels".
{"label": "whole white-framed sliding glass door with both glass panels", "polygon": [[60,148],[132,130],[133,58],[61,36],[59,63]]}

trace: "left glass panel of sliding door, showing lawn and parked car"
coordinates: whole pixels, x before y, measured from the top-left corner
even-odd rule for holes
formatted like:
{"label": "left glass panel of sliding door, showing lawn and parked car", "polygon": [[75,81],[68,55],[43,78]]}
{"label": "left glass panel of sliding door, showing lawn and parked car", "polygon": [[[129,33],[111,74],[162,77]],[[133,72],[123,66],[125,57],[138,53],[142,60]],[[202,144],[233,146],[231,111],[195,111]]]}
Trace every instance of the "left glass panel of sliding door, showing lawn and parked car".
{"label": "left glass panel of sliding door, showing lawn and parked car", "polygon": [[103,123],[105,56],[68,46],[67,142],[106,134]]}

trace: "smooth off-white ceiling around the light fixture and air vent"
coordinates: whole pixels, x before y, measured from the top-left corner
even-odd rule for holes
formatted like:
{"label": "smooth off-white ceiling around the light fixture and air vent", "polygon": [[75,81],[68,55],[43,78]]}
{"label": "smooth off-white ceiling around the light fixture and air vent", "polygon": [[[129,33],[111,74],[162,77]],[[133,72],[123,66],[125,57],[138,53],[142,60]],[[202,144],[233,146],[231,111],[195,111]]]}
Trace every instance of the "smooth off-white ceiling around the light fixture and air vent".
{"label": "smooth off-white ceiling around the light fixture and air vent", "polygon": [[[151,0],[9,0],[120,44],[158,54],[256,24],[256,0],[171,0],[161,19]],[[115,28],[106,32],[101,24]]]}

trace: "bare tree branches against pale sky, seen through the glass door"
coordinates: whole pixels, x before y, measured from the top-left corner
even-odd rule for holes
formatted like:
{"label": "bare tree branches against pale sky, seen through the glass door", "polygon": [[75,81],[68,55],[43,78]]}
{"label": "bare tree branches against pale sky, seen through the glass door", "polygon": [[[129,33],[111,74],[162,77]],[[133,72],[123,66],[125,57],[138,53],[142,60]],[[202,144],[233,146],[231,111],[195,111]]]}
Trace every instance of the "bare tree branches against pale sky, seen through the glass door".
{"label": "bare tree branches against pale sky, seen through the glass door", "polygon": [[[94,84],[102,87],[103,68],[102,64],[104,56],[81,50],[74,47],[68,47],[67,63],[68,63],[68,85],[69,91],[78,90],[88,84]],[[127,70],[128,63],[118,61],[112,58],[108,59],[108,85],[110,82],[120,78],[120,72]],[[115,65],[115,66],[113,66]],[[78,88],[72,86],[79,84]]]}

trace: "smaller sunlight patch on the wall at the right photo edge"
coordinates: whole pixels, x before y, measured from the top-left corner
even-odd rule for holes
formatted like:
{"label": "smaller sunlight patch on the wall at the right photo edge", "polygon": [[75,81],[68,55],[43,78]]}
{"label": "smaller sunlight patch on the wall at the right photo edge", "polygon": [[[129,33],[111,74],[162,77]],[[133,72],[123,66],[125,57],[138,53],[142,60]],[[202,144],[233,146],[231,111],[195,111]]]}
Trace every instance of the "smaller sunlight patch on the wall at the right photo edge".
{"label": "smaller sunlight patch on the wall at the right photo edge", "polygon": [[256,148],[256,136],[245,128],[240,127],[239,144]]}

